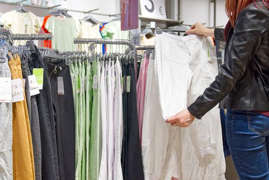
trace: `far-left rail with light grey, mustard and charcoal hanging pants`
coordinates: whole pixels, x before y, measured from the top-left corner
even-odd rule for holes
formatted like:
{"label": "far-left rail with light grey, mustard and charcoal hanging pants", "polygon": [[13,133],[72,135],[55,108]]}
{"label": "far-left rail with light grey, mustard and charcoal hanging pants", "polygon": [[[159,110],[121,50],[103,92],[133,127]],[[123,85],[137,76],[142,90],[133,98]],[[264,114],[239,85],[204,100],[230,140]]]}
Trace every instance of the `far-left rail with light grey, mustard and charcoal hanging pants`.
{"label": "far-left rail with light grey, mustard and charcoal hanging pants", "polygon": [[[9,40],[7,43],[51,39],[51,35],[36,34],[33,38],[32,34],[7,32],[0,34],[2,40]],[[43,103],[40,93],[44,86],[37,83],[38,69],[33,69],[39,51],[30,49],[10,44],[0,46],[1,179],[42,179],[42,163],[46,162],[46,155],[42,155],[40,125],[43,120],[40,118],[40,104]]]}

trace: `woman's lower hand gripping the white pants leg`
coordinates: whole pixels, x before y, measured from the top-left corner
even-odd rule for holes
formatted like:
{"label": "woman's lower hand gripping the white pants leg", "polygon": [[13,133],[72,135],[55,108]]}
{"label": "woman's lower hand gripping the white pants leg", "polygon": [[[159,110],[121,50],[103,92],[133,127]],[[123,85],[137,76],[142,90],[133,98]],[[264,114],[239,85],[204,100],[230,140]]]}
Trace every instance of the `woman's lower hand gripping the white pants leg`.
{"label": "woman's lower hand gripping the white pants leg", "polygon": [[190,114],[188,110],[183,110],[166,120],[167,123],[171,123],[172,126],[179,126],[181,128],[189,127],[189,125],[195,120],[195,117]]}

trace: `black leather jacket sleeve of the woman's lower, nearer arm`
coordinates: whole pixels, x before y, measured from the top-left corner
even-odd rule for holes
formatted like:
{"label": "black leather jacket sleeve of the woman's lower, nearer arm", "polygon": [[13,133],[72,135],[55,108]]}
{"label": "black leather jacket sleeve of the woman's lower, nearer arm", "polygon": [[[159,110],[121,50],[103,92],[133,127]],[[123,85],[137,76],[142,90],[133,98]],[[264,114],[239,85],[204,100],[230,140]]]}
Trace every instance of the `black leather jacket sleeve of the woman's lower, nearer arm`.
{"label": "black leather jacket sleeve of the woman's lower, nearer arm", "polygon": [[222,74],[205,89],[202,96],[188,107],[188,111],[201,119],[215,107],[243,77],[262,41],[266,15],[261,10],[245,8],[239,14],[234,35],[228,44]]}

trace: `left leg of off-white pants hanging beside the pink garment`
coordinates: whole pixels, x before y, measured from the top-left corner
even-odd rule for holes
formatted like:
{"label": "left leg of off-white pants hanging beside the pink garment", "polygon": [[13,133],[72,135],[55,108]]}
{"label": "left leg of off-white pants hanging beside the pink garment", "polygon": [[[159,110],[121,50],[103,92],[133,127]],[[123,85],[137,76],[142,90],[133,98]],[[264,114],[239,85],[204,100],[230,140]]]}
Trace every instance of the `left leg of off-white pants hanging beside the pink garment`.
{"label": "left leg of off-white pants hanging beside the pink garment", "polygon": [[150,59],[147,69],[141,143],[145,180],[161,179],[169,130],[170,125],[162,118],[154,60]]}

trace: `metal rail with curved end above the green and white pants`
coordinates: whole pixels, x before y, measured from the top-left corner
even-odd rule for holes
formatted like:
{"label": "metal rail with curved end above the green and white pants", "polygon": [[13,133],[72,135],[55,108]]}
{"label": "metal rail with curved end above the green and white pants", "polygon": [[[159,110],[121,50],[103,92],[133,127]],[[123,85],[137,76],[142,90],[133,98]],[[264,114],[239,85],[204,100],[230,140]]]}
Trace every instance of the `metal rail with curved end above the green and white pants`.
{"label": "metal rail with curved end above the green and white pants", "polygon": [[[137,72],[137,49],[136,46],[131,41],[128,40],[103,40],[103,39],[80,39],[74,38],[74,44],[116,44],[116,45],[127,45],[130,50],[133,52],[133,56],[136,61],[134,61],[134,69]],[[136,73],[137,80],[137,73]]]}

